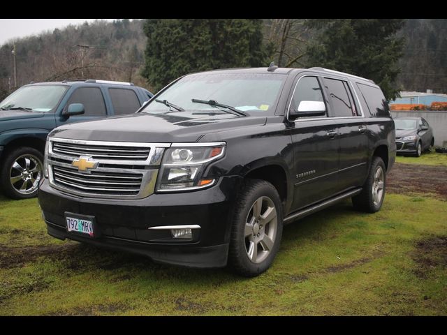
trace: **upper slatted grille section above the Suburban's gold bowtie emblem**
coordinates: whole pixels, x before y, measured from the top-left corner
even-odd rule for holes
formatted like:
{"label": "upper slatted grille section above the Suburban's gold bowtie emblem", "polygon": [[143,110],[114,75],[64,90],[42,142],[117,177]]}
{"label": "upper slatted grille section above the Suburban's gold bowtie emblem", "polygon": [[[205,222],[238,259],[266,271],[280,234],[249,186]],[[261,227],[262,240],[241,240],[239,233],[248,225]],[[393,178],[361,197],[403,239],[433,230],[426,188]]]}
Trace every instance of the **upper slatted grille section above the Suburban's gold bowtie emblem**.
{"label": "upper slatted grille section above the Suburban's gold bowtie emblem", "polygon": [[94,159],[115,159],[146,161],[149,156],[150,147],[107,147],[101,145],[73,144],[54,142],[53,152],[55,154],[68,156],[90,156]]}

